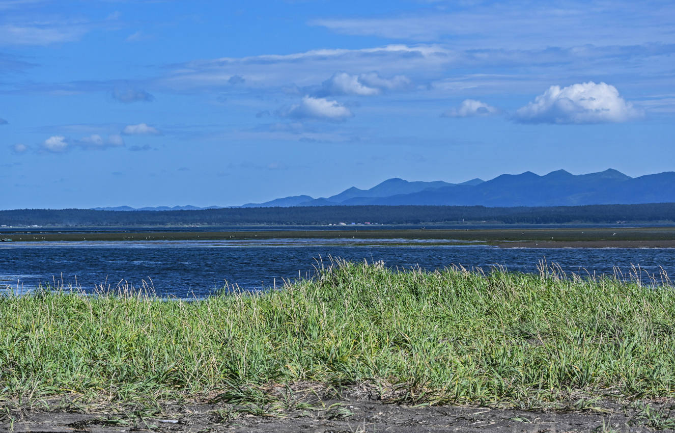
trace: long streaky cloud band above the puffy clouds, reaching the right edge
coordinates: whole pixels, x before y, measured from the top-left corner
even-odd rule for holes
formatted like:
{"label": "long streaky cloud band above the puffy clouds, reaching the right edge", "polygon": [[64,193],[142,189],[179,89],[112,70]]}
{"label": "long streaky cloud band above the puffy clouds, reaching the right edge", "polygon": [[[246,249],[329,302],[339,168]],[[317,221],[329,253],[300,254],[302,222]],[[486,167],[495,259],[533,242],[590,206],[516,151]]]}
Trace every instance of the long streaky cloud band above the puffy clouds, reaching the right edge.
{"label": "long streaky cloud band above the puffy clouds, reaching the right edge", "polygon": [[[462,47],[453,40],[452,45],[397,44],[221,57],[172,66],[167,76],[153,82],[153,86],[161,86],[163,91],[232,91],[230,80],[240,75],[246,78],[242,83],[246,91],[274,91],[300,97],[375,94],[410,88],[419,93],[429,91],[427,95],[433,93],[433,97],[443,94],[480,99],[489,92],[503,93],[505,87],[512,93],[536,93],[551,82],[580,82],[588,77],[589,70],[610,82],[621,82],[626,79],[622,70],[637,66],[646,80],[641,81],[641,86],[647,82],[655,87],[668,86],[672,75],[670,59],[675,53],[675,44],[667,43],[595,46],[584,41],[583,45],[541,49],[500,46],[475,49],[475,45]],[[346,75],[338,76],[337,71]],[[333,74],[346,82],[327,80]],[[466,91],[469,88],[470,92]]]}

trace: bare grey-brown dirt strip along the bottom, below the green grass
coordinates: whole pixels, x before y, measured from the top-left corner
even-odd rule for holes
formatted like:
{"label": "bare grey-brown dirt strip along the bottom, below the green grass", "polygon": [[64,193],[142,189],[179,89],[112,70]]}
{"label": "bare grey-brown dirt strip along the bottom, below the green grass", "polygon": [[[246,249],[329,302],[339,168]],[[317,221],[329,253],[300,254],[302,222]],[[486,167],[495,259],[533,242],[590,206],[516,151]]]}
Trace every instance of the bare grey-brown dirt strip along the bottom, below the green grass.
{"label": "bare grey-brown dirt strip along the bottom, below the green grass", "polygon": [[675,411],[671,417],[671,406],[672,402],[593,403],[593,407],[580,410],[522,411],[325,400],[275,413],[266,413],[265,407],[246,405],[193,405],[162,415],[139,417],[14,408],[0,412],[0,430],[42,433],[675,432]]}

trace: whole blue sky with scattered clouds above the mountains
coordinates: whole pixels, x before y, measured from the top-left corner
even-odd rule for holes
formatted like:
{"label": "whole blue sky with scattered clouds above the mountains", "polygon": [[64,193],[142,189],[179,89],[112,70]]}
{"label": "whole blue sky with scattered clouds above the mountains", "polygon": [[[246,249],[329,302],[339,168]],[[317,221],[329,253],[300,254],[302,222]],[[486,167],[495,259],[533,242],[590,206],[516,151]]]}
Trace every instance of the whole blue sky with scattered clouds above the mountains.
{"label": "whole blue sky with scattered clouds above the mountains", "polygon": [[675,170],[672,1],[0,0],[0,209]]}

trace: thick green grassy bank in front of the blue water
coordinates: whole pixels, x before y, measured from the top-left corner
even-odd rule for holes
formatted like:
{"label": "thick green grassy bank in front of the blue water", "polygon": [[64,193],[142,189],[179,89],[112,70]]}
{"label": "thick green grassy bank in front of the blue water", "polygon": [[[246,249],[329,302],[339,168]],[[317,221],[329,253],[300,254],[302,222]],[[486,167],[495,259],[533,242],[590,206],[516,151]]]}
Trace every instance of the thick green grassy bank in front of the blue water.
{"label": "thick green grassy bank in front of the blue water", "polygon": [[190,303],[0,297],[5,401],[244,398],[298,382],[516,407],[675,397],[675,295],[609,278],[340,263],[263,295]]}

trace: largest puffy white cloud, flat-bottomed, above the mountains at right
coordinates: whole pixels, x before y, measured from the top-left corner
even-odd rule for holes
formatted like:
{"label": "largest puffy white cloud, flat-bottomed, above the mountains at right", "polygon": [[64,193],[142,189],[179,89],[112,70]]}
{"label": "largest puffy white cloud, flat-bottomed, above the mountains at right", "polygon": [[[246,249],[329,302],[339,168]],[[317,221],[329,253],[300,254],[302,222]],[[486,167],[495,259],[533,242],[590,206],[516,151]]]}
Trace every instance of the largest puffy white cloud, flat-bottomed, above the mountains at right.
{"label": "largest puffy white cloud, flat-bottomed, above the mountains at right", "polygon": [[530,124],[597,124],[626,122],[643,111],[624,101],[616,87],[589,81],[567,87],[550,86],[518,109],[514,120]]}

